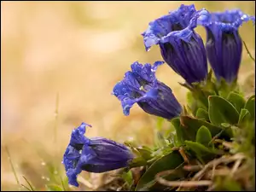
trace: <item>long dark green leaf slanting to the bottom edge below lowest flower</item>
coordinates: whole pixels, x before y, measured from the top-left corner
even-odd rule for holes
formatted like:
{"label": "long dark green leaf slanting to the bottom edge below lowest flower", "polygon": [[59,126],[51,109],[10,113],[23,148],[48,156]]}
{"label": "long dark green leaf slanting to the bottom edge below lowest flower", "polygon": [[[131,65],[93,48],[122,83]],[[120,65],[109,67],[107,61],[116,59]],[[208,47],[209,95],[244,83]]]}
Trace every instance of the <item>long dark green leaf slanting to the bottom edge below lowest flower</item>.
{"label": "long dark green leaf slanting to the bottom edge below lowest flower", "polygon": [[[183,157],[177,151],[173,151],[170,154],[166,154],[161,157],[159,160],[156,160],[154,164],[152,164],[148,170],[143,174],[143,177],[140,178],[139,182],[136,186],[136,191],[145,190],[145,186],[148,183],[150,186],[154,183],[154,177],[157,173],[163,172],[166,170],[175,169],[177,166],[180,166],[183,163]],[[172,177],[168,177],[168,179],[172,180],[177,178],[177,175],[172,175]]]}

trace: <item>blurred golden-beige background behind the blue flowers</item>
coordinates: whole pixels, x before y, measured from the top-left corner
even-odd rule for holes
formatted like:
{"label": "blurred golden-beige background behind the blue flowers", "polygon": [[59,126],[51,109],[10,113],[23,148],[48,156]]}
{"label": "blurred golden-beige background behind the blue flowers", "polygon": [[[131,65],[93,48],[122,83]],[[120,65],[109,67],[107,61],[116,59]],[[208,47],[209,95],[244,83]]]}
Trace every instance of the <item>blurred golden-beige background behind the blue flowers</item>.
{"label": "blurred golden-beige background behind the blue flowers", "polygon": [[[209,11],[239,8],[255,15],[255,2],[195,3]],[[61,165],[73,128],[92,125],[88,137],[117,142],[153,142],[157,119],[134,106],[125,117],[114,84],[134,61],[161,60],[154,46],[146,52],[141,33],[148,22],[181,2],[1,2],[1,189],[16,189],[9,165],[38,187],[50,182],[44,166]],[[241,38],[255,54],[255,26],[240,28]],[[203,39],[206,32],[196,29]],[[243,49],[239,73],[242,89],[254,91],[254,63]],[[164,65],[157,77],[169,85],[177,100],[185,93],[183,79]],[[244,84],[246,82],[246,84]],[[44,181],[43,181],[44,180]]]}

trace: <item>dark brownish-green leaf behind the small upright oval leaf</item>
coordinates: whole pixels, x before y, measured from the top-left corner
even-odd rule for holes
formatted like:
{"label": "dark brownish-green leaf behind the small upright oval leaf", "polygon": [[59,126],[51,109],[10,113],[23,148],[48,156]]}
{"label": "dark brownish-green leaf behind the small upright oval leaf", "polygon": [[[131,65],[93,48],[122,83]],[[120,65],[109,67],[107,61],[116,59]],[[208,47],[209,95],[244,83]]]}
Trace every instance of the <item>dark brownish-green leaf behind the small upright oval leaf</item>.
{"label": "dark brownish-green leaf behind the small upright oval leaf", "polygon": [[[180,121],[180,130],[183,132],[183,140],[195,141],[196,133],[202,125],[208,128],[208,130],[212,134],[212,137],[218,135],[221,131],[224,130],[223,127],[212,125],[205,120],[195,119],[189,116],[181,116]],[[229,140],[230,137],[233,137],[233,133],[231,129],[226,129],[221,133],[219,137]]]}

